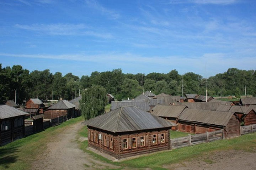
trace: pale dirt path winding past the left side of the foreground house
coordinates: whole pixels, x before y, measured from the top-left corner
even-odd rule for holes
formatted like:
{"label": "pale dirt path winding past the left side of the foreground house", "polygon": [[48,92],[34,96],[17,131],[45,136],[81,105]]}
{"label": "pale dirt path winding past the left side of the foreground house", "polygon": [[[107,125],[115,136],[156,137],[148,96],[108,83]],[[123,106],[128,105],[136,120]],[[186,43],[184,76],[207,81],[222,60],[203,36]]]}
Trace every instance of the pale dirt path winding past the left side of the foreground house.
{"label": "pale dirt path winding past the left side of the foreground house", "polygon": [[65,128],[62,133],[55,136],[48,144],[46,151],[39,155],[39,160],[32,169],[42,170],[94,170],[116,169],[117,166],[95,160],[91,155],[79,149],[76,135],[84,127],[80,122]]}

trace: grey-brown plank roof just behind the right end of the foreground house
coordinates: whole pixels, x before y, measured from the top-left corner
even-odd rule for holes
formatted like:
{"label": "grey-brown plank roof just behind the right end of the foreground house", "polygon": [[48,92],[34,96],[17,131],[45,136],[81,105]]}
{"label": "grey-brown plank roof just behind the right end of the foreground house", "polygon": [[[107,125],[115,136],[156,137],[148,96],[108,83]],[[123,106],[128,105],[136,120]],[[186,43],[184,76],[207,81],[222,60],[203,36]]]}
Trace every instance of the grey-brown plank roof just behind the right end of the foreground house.
{"label": "grey-brown plank roof just behind the right end of the foreground house", "polygon": [[178,118],[187,106],[175,105],[156,105],[152,110],[152,114],[161,117]]}

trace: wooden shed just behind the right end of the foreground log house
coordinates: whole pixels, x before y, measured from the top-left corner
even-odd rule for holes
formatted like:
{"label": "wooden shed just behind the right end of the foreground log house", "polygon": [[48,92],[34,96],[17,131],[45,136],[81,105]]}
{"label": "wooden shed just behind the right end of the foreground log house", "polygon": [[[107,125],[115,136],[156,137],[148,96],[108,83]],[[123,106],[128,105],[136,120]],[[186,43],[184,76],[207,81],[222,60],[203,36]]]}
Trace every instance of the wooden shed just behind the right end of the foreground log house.
{"label": "wooden shed just behind the right end of the foreground log house", "polygon": [[[177,105],[156,105],[152,109],[152,114],[177,124],[179,115],[186,108],[186,106]],[[172,130],[177,130],[177,126],[172,126]]]}

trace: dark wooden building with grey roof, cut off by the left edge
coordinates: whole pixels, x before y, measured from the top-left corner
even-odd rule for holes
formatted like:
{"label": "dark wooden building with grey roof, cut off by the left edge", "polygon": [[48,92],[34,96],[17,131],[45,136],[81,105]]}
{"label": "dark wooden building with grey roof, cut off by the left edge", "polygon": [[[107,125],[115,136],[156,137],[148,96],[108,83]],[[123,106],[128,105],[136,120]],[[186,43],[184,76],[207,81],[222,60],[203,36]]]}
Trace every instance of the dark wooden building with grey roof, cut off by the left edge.
{"label": "dark wooden building with grey roof, cut off by the left edge", "polygon": [[0,146],[25,136],[24,118],[26,114],[14,107],[0,105]]}

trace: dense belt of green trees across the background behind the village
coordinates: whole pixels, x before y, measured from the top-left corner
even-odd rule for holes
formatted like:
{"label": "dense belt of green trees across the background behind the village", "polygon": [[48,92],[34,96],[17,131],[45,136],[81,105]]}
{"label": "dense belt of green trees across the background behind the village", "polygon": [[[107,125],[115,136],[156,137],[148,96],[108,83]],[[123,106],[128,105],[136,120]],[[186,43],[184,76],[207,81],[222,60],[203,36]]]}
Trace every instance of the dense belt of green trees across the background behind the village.
{"label": "dense belt of green trees across the background behind the village", "polygon": [[[144,91],[151,90],[154,94],[162,92],[173,96],[182,95],[182,80],[185,94],[205,95],[206,79],[201,75],[189,72],[183,75],[177,70],[169,73],[123,73],[122,69],[106,72],[92,72],[90,76],[79,78],[72,73],[62,75],[60,72],[50,73],[49,69],[30,72],[20,65],[2,68],[0,64],[0,103],[15,99],[17,90],[17,103],[28,98],[41,100],[60,98],[71,100],[79,96],[81,91],[92,85],[99,85],[116,97],[117,100],[133,98]],[[209,96],[240,96],[245,94],[256,95],[255,70],[239,70],[230,68],[224,73],[216,74],[207,79],[207,93]]]}

